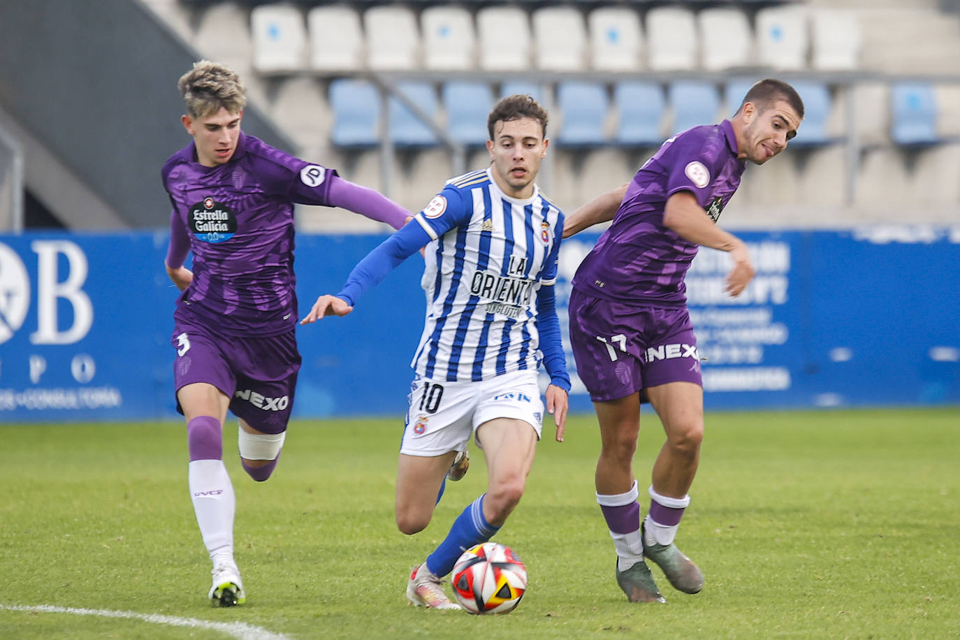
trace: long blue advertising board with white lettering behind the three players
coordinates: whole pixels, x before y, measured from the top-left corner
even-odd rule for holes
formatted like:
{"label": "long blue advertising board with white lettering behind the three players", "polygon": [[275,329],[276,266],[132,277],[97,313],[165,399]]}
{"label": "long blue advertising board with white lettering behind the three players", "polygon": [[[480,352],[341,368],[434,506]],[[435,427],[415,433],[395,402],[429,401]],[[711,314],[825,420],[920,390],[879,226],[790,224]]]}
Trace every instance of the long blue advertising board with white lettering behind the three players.
{"label": "long blue advertising board with white lettering behind the three players", "polygon": [[[686,279],[708,409],[960,404],[960,227],[738,235],[757,269],[742,296],[724,293],[721,251],[701,249]],[[569,280],[596,237],[564,241],[564,336]],[[301,315],[383,239],[300,235]],[[164,232],[0,236],[0,422],[176,417],[166,246]],[[421,271],[414,256],[347,318],[298,328],[294,415],[399,419]],[[571,410],[590,411],[572,378]]]}

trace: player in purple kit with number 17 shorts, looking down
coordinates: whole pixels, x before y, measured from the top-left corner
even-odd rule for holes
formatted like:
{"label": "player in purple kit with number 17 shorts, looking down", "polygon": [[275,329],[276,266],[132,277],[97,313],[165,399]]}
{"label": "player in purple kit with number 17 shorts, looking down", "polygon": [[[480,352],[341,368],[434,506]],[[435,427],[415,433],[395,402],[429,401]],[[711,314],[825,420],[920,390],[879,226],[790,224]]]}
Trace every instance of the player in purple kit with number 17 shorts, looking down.
{"label": "player in purple kit with number 17 shorts, looking down", "polygon": [[[715,223],[749,160],[786,148],[804,117],[787,83],[764,80],[730,120],[677,133],[634,179],[567,218],[564,237],[612,220],[573,278],[570,342],[600,423],[597,502],[616,549],[616,581],[631,602],[664,602],[644,557],[685,593],[700,569],[674,545],[704,436],[697,341],[684,274],[699,246],[728,251],[727,291],[738,296],[755,270],[744,243]],[[666,442],[654,462],[650,509],[640,524],[633,472],[640,403],[649,401]]]}

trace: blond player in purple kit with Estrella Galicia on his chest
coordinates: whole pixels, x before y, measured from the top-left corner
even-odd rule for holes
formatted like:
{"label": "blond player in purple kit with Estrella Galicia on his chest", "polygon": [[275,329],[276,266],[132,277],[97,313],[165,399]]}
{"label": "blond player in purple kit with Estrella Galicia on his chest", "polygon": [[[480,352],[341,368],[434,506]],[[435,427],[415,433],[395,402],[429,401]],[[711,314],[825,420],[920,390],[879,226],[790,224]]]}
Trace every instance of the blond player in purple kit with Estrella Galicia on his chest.
{"label": "blond player in purple kit with Estrella Galicia on his chest", "polygon": [[[228,409],[257,482],[276,467],[300,370],[294,291],[294,203],[342,206],[395,228],[408,211],[337,172],[240,129],[244,86],[202,60],[180,78],[183,128],[193,137],[163,166],[173,212],[166,271],[182,292],[171,343],[177,409],[186,418],[189,487],[213,562],[208,598],[245,601],[233,559],[235,498],[223,462]],[[193,252],[193,269],[183,266]]]}

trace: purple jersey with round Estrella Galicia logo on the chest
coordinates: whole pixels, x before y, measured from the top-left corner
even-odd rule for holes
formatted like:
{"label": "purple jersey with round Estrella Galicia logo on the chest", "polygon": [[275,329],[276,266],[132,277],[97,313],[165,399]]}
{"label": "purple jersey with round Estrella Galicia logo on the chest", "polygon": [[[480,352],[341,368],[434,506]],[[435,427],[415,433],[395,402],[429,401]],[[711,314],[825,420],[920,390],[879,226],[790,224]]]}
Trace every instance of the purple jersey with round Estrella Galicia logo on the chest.
{"label": "purple jersey with round Estrella Galicia logo on the chest", "polygon": [[[330,205],[332,169],[240,133],[228,162],[204,167],[191,142],[163,165],[174,242],[189,238],[193,281],[175,318],[233,336],[294,328],[294,202]],[[177,265],[173,265],[177,266]]]}

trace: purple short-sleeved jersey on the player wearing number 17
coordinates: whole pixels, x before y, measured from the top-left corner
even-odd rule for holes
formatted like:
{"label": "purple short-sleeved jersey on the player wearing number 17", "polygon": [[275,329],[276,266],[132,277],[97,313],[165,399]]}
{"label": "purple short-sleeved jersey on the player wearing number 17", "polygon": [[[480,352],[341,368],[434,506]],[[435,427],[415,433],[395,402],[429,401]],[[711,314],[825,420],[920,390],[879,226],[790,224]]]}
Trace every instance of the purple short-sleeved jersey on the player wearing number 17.
{"label": "purple short-sleeved jersey on the player wearing number 17", "polygon": [[577,270],[574,288],[628,303],[683,306],[684,275],[698,246],[663,225],[663,209],[670,196],[689,191],[715,223],[746,167],[737,153],[729,120],[664,142],[636,172],[612,225]]}

